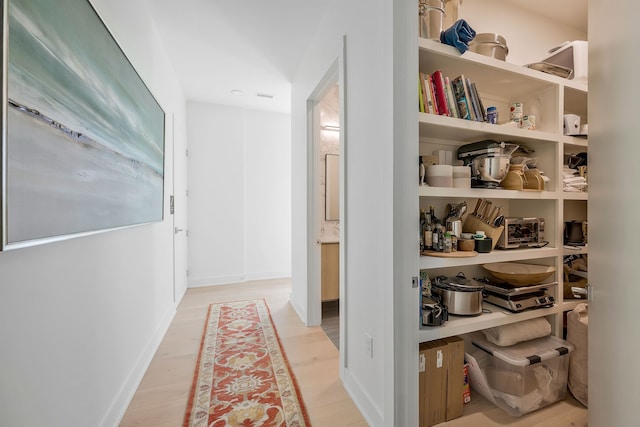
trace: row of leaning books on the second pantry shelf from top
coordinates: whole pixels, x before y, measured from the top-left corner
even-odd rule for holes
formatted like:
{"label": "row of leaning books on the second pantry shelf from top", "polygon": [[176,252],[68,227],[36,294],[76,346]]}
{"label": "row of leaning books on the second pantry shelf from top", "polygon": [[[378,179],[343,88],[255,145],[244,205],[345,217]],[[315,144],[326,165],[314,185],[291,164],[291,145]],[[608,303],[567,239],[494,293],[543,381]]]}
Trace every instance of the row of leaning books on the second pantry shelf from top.
{"label": "row of leaning books on the second pantry shelf from top", "polygon": [[464,75],[449,79],[441,70],[436,70],[431,74],[420,73],[418,80],[421,113],[487,121],[487,110],[476,84]]}

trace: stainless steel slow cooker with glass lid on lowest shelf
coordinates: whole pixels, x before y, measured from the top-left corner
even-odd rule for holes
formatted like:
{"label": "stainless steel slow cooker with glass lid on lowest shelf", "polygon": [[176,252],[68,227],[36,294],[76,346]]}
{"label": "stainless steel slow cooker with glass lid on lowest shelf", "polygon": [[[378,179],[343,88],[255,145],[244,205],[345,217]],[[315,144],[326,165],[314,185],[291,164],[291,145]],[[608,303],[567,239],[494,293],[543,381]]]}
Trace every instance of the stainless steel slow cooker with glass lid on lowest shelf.
{"label": "stainless steel slow cooker with glass lid on lowest shelf", "polygon": [[436,277],[432,291],[440,297],[449,314],[475,316],[482,313],[484,285],[467,279],[460,273],[455,277]]}

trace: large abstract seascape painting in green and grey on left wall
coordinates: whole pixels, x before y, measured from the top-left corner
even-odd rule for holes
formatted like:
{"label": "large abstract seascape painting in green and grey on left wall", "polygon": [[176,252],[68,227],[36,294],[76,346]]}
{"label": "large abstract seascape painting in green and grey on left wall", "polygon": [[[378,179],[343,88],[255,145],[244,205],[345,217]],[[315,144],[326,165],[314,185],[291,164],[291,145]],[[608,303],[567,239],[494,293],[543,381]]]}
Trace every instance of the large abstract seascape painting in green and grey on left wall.
{"label": "large abstract seascape painting in green and grey on left wall", "polygon": [[8,0],[2,249],[163,218],[165,114],[87,0]]}

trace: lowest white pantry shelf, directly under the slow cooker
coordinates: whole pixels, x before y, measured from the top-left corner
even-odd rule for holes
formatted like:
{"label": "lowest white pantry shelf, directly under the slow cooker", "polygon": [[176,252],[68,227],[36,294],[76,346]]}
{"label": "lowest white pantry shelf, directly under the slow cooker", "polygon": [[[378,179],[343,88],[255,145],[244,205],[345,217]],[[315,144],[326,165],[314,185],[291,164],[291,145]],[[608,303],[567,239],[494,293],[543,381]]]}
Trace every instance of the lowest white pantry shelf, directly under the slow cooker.
{"label": "lowest white pantry shelf, directly under the slow cooker", "polygon": [[[483,302],[482,306],[485,310],[491,310],[491,313],[483,313],[478,316],[449,315],[449,320],[447,320],[442,326],[421,326],[420,332],[418,333],[419,341],[432,341],[482,329],[493,328],[495,326],[520,322],[522,320],[557,314],[564,311],[565,308],[564,305],[554,305],[549,308],[537,308],[525,310],[520,313],[513,313],[487,302]],[[569,310],[571,310],[571,308]]]}

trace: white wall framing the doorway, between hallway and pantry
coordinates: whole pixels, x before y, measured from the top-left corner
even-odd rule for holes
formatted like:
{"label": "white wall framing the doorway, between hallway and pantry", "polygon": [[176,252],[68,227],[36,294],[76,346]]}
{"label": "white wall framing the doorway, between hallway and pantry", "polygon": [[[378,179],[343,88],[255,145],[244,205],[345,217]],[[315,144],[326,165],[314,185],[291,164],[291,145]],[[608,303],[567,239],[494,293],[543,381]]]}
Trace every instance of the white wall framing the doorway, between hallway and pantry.
{"label": "white wall framing the doorway, between hallway and pantry", "polygon": [[[342,154],[346,348],[343,382],[371,425],[392,425],[393,411],[393,133],[392,17],[390,0],[333,2],[306,51],[292,86],[293,282],[291,302],[307,318],[308,173],[307,100],[340,57],[346,35],[343,114],[348,120]],[[342,83],[341,83],[342,84]],[[313,241],[315,244],[315,240]],[[342,307],[341,307],[342,308]],[[365,346],[373,338],[373,358]],[[391,378],[391,380],[390,380]],[[391,381],[391,383],[390,383]]]}

